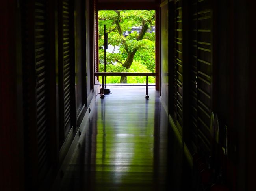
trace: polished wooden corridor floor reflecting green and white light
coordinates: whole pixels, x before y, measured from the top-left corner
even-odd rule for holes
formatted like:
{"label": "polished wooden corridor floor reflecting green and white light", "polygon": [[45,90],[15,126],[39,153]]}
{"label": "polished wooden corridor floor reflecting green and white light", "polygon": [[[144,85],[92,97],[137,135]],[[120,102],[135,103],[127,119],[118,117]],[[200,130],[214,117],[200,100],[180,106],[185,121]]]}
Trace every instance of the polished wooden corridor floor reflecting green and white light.
{"label": "polished wooden corridor floor reflecting green and white light", "polygon": [[166,190],[167,127],[158,91],[150,87],[146,100],[145,87],[110,89],[96,99],[60,190]]}

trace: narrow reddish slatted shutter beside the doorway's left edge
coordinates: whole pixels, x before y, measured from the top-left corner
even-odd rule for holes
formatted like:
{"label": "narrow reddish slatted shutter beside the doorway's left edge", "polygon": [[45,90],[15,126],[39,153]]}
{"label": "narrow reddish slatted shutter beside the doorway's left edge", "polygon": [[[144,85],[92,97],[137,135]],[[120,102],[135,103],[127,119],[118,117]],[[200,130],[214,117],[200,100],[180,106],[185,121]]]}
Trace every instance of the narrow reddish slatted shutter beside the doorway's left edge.
{"label": "narrow reddish slatted shutter beside the doorway's left edge", "polygon": [[[94,71],[98,72],[98,10],[96,7],[96,0],[93,1],[93,37],[94,37]],[[98,80],[98,76],[95,76],[95,82]]]}

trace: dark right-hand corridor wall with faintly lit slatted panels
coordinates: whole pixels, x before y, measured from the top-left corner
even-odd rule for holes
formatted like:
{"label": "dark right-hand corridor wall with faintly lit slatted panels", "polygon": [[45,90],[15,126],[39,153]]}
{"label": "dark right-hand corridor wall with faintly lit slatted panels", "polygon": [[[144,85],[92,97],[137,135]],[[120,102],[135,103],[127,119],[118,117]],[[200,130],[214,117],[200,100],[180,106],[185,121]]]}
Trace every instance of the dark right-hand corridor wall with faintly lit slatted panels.
{"label": "dark right-hand corridor wall with faintly lit slatted panels", "polygon": [[[253,4],[249,0],[162,1],[161,101],[171,131],[178,132],[172,142],[184,153],[179,160],[187,169],[179,172],[182,178],[188,176],[182,181],[207,175],[193,171],[197,168],[194,153],[199,153],[210,164],[211,176],[217,178],[212,170],[222,169],[230,190],[255,189],[250,178],[256,153]],[[210,134],[211,111],[219,118],[219,142]],[[222,151],[225,125],[226,155]],[[195,185],[199,182],[191,182],[195,190],[203,189]]]}

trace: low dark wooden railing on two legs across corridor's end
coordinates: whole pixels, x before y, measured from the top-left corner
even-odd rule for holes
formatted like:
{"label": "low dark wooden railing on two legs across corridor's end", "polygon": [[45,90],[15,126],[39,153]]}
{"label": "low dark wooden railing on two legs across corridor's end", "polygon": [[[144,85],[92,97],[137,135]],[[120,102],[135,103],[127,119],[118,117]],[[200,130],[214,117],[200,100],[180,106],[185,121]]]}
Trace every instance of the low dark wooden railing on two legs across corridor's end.
{"label": "low dark wooden railing on two legs across corridor's end", "polygon": [[[95,72],[95,76],[102,76],[102,84],[101,84],[101,91],[100,91],[100,98],[104,98],[104,76],[146,76],[146,94],[145,98],[148,99],[148,76],[156,76],[157,73],[137,73],[137,72]],[[130,86],[136,86],[136,85],[130,85]]]}

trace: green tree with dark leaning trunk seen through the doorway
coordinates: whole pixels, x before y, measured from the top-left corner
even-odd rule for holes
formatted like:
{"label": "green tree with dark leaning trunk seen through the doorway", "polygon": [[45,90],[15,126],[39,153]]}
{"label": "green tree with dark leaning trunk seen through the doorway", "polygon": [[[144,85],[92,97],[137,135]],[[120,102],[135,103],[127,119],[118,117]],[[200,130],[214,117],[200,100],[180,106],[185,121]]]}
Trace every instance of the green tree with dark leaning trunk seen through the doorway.
{"label": "green tree with dark leaning trunk seen through the doorway", "polygon": [[[154,10],[122,10],[99,11],[99,57],[104,59],[104,25],[108,32],[108,44],[114,47],[112,53],[106,53],[108,64],[118,62],[124,71],[130,69],[134,59],[146,65],[154,72],[155,36],[149,33],[150,27],[155,25]],[[124,36],[125,31],[132,27],[140,27],[139,33],[130,33]],[[114,53],[116,47],[119,53]],[[127,83],[127,76],[121,76],[120,83]]]}

